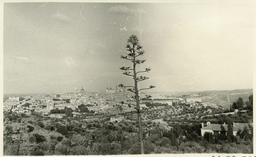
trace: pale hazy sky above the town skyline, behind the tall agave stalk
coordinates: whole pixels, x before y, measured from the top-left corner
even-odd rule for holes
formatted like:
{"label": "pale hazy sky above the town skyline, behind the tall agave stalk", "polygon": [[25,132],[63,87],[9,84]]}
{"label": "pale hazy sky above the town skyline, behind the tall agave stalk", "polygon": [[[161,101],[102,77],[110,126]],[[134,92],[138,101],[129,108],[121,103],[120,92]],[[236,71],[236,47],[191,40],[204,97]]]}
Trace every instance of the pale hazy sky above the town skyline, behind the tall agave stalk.
{"label": "pale hazy sky above the town skyline, behind the tall agave stalk", "polygon": [[146,92],[253,88],[250,4],[5,3],[4,94],[105,91],[132,84],[119,67],[136,34]]}

